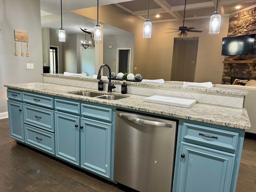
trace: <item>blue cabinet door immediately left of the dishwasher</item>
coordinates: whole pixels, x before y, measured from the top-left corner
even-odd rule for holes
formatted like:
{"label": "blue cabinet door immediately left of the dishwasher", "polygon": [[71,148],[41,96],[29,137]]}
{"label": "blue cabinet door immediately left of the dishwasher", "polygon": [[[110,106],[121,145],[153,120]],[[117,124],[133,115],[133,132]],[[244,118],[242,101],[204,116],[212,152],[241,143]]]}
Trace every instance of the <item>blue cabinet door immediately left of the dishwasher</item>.
{"label": "blue cabinet door immediately left of the dishwasher", "polygon": [[112,124],[81,118],[81,167],[110,178]]}

